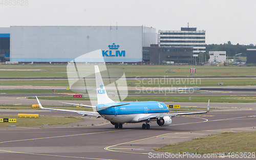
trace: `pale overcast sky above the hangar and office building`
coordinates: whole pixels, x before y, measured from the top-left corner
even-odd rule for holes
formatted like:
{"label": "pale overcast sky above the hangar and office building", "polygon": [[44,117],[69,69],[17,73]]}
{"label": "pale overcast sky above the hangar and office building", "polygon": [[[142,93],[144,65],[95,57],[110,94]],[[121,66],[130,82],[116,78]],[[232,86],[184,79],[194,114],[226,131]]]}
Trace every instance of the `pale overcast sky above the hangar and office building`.
{"label": "pale overcast sky above the hangar and office building", "polygon": [[[8,0],[8,2],[14,0]],[[25,0],[23,0],[25,1]],[[17,2],[17,0],[16,0]],[[22,0],[19,0],[22,3]],[[25,4],[26,2],[26,4]],[[0,0],[0,27],[146,26],[158,30],[197,27],[206,44],[256,44],[255,0],[108,1],[27,0],[14,6]],[[21,4],[20,4],[21,5]]]}

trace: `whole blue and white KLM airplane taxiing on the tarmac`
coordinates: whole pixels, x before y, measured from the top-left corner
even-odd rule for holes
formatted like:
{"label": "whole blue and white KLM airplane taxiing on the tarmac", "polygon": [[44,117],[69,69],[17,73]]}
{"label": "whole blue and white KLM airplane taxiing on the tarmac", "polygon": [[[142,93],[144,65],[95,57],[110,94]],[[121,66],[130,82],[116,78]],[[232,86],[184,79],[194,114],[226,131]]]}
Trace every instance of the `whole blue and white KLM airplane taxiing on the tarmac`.
{"label": "whole blue and white KLM airplane taxiing on the tarmac", "polygon": [[[169,108],[162,102],[114,102],[106,94],[105,87],[100,75],[97,65],[95,65],[95,78],[97,88],[98,105],[88,106],[73,103],[65,103],[71,105],[79,105],[84,107],[96,108],[97,112],[93,111],[78,111],[66,109],[44,108],[40,104],[38,98],[37,102],[41,109],[69,111],[82,114],[82,116],[96,116],[96,118],[104,118],[115,125],[115,128],[122,128],[124,123],[140,123],[142,122],[142,129],[150,129],[151,121],[157,121],[159,126],[167,126],[172,123],[172,118],[179,115],[192,115],[209,112],[209,102],[207,111],[204,112],[185,112],[185,113],[169,113]],[[60,102],[64,103],[64,102]]]}

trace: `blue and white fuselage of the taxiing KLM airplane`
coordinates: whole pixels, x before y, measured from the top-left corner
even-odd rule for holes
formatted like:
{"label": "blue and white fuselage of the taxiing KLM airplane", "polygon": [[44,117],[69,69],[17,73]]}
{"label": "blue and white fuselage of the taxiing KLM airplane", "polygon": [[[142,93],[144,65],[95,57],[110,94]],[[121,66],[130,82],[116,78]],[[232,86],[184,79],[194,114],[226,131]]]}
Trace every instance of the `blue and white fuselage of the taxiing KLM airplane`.
{"label": "blue and white fuselage of the taxiing KLM airplane", "polygon": [[[120,105],[120,104],[127,104],[127,105],[100,109],[101,107]],[[154,101],[108,103],[108,104],[99,104],[96,107],[97,107],[96,109],[98,113],[102,117],[114,123],[138,123],[140,122],[138,121],[139,118],[142,118],[148,115],[169,112],[167,105],[165,105],[162,102],[154,102]]]}

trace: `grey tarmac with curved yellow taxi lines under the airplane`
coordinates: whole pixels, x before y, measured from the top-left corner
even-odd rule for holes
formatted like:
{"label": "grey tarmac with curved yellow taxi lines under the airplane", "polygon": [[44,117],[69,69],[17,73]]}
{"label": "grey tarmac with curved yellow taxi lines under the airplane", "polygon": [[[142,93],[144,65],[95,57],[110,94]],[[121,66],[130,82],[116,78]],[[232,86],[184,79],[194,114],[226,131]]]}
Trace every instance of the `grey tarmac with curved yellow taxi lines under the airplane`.
{"label": "grey tarmac with curved yellow taxi lines under the airplane", "polygon": [[[206,103],[197,104],[204,106]],[[210,104],[211,110],[207,114],[177,116],[170,126],[159,127],[152,122],[150,130],[142,130],[142,123],[124,124],[123,129],[114,129],[106,120],[90,117],[66,125],[3,127],[0,128],[0,159],[150,159],[148,153],[158,153],[153,149],[169,143],[222,132],[256,131],[256,106],[253,103],[242,106],[221,104],[216,110]],[[1,110],[0,115],[15,115],[18,111]],[[46,116],[70,114],[49,110],[34,112]]]}

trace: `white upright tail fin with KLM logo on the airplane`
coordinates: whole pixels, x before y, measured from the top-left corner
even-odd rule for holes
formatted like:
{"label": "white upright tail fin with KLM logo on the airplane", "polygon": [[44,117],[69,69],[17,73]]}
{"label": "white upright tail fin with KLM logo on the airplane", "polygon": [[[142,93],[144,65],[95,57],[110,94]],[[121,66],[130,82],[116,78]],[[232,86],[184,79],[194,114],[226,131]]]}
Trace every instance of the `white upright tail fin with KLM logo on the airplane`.
{"label": "white upright tail fin with KLM logo on the airplane", "polygon": [[95,65],[94,67],[98,104],[113,103],[114,101],[110,99],[109,96],[106,94],[106,89],[102,81],[98,65]]}

